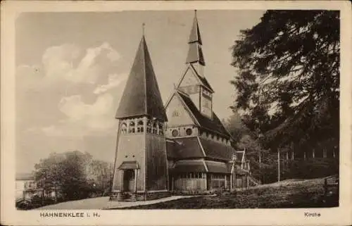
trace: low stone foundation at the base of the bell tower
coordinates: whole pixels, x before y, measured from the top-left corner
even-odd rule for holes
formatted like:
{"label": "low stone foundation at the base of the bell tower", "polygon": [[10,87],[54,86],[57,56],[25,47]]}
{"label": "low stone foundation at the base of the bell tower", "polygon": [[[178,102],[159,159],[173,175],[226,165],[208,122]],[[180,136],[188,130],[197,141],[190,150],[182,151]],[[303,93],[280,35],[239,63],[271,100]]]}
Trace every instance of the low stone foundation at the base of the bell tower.
{"label": "low stone foundation at the base of the bell tower", "polygon": [[170,196],[170,192],[113,192],[109,201],[147,201]]}

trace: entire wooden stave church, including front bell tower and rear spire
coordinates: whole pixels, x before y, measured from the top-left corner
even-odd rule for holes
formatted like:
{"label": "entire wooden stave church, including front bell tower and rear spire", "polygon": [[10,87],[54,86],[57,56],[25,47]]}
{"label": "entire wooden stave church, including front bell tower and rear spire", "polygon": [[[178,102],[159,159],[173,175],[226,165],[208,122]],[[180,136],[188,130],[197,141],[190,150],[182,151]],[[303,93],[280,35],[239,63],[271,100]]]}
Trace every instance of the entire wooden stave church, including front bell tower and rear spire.
{"label": "entire wooden stave church, including front bell tower and rear spire", "polygon": [[115,115],[112,200],[233,191],[239,180],[249,185],[250,172],[238,167],[230,133],[213,112],[196,13],[188,44],[186,69],[164,107],[142,35]]}

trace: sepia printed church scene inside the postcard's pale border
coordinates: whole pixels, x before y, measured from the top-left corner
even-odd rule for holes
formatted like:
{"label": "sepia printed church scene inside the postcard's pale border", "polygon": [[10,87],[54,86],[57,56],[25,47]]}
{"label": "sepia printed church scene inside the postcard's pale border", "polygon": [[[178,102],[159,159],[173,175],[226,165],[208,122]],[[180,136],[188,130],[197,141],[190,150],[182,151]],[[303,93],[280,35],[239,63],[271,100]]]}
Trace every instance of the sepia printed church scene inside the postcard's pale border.
{"label": "sepia printed church scene inside the postcard's pale border", "polygon": [[15,210],[341,207],[339,9],[27,11],[13,25]]}

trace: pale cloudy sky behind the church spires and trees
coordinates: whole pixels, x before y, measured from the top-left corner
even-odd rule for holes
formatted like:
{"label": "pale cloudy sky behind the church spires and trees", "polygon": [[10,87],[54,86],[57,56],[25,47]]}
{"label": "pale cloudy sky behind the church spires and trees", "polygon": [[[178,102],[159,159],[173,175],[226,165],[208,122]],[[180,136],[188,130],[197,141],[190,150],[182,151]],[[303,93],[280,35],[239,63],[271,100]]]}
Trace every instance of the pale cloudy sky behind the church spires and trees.
{"label": "pale cloudy sky behind the church spires and trees", "polygon": [[[263,11],[197,11],[205,76],[219,118],[232,112],[230,47]],[[145,23],[165,103],[186,65],[194,11],[22,13],[15,22],[16,172],[51,152],[87,151],[113,162],[118,108]]]}

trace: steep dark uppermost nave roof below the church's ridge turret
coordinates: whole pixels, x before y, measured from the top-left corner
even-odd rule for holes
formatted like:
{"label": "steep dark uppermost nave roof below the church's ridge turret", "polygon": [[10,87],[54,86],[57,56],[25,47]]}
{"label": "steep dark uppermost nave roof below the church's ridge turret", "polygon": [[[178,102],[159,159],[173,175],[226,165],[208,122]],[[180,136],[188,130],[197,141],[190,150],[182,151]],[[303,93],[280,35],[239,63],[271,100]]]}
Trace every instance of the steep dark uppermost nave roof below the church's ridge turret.
{"label": "steep dark uppermost nave roof below the church's ridge turret", "polygon": [[184,94],[180,91],[177,91],[177,93],[181,96],[184,103],[186,103],[187,107],[194,115],[194,118],[196,118],[201,127],[230,138],[230,134],[227,132],[224,125],[222,125],[220,119],[217,115],[215,115],[214,112],[213,118],[206,117],[205,115],[199,112],[198,108],[194,105],[193,101],[189,98],[187,94]]}

